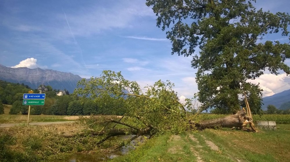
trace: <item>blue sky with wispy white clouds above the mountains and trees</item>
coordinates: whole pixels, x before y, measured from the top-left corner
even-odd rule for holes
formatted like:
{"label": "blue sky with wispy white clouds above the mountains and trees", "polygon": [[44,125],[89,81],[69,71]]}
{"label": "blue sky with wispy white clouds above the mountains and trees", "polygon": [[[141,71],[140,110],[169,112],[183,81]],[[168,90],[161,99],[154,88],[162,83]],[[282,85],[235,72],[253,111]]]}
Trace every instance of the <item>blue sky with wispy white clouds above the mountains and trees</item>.
{"label": "blue sky with wispy white clouds above the mountains and trees", "polygon": [[[288,12],[290,1],[258,0],[256,6]],[[0,3],[0,64],[5,66],[39,67],[85,78],[99,76],[102,70],[122,71],[142,87],[170,80],[183,99],[198,92],[191,59],[171,55],[171,43],[156,27],[156,16],[145,0]],[[264,74],[252,82],[261,84],[264,96],[290,89],[285,74]]]}

